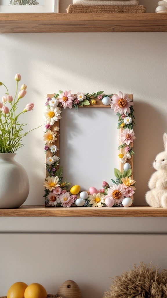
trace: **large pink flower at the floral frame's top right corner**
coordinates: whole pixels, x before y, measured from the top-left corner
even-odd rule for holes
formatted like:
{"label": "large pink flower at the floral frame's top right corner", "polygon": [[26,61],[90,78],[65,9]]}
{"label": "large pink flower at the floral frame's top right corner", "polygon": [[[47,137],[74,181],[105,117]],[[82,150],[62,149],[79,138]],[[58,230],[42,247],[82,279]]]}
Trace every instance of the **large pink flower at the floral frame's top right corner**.
{"label": "large pink flower at the floral frame's top right corner", "polygon": [[130,113],[130,106],[133,105],[132,100],[129,98],[129,95],[122,93],[121,91],[118,94],[114,94],[112,97],[111,109],[114,109],[115,113],[126,114]]}

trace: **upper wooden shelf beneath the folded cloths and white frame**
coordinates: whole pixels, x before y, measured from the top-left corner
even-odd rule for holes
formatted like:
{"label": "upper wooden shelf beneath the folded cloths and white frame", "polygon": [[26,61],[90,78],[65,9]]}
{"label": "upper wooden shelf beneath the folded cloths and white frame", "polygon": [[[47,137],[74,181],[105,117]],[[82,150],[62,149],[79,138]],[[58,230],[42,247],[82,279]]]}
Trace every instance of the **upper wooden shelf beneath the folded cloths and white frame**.
{"label": "upper wooden shelf beneath the folded cloths and white frame", "polygon": [[167,13],[0,13],[0,33],[157,31],[167,31]]}

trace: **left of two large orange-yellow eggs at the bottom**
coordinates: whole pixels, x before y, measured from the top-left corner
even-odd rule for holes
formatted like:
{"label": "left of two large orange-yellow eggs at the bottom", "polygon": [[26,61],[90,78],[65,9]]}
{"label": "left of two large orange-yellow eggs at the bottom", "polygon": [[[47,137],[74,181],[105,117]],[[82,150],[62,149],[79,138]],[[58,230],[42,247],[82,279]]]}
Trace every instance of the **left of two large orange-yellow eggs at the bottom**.
{"label": "left of two large orange-yellow eggs at the bottom", "polygon": [[27,287],[26,283],[14,283],[7,292],[7,298],[24,298],[24,292]]}

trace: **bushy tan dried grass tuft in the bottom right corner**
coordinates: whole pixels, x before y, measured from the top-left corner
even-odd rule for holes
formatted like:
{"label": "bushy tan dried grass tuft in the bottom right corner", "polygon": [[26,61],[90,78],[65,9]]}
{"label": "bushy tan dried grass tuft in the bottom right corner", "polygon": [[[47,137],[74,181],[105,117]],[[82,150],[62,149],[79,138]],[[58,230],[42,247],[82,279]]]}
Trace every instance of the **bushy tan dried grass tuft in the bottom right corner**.
{"label": "bushy tan dried grass tuft in the bottom right corner", "polygon": [[134,270],[114,278],[103,298],[166,298],[167,270],[159,273],[155,266],[141,263]]}

